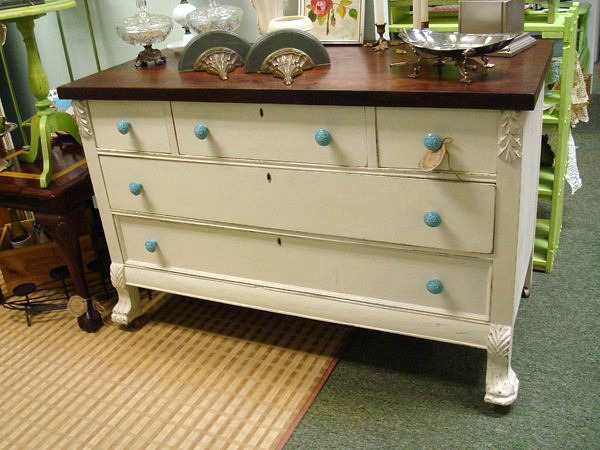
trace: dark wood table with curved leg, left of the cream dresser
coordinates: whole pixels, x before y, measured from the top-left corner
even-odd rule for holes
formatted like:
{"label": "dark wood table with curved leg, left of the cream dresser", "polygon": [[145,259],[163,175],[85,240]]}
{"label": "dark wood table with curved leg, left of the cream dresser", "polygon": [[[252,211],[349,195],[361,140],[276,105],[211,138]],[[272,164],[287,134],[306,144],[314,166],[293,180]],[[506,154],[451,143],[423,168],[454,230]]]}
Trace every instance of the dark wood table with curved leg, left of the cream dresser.
{"label": "dark wood table with curved leg, left of the cream dresser", "polygon": [[77,319],[79,327],[94,332],[102,318],[92,307],[79,244],[85,209],[91,206],[94,191],[83,150],[70,140],[68,136],[54,140],[53,179],[47,188],[41,188],[39,182],[42,161],[24,163],[13,158],[13,166],[0,172],[0,206],[33,211],[50,233],[65,258],[77,294],[87,301],[87,312]]}

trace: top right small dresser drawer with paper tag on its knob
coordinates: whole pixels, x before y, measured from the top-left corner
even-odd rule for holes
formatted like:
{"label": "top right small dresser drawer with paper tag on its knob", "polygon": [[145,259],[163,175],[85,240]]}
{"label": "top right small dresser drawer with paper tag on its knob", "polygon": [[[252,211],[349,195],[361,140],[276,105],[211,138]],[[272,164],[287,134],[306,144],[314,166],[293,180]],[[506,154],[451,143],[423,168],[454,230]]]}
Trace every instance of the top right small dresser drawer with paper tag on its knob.
{"label": "top right small dresser drawer with paper tag on its knob", "polygon": [[437,170],[495,174],[498,112],[434,108],[377,108],[379,167],[419,169],[428,133],[450,138]]}

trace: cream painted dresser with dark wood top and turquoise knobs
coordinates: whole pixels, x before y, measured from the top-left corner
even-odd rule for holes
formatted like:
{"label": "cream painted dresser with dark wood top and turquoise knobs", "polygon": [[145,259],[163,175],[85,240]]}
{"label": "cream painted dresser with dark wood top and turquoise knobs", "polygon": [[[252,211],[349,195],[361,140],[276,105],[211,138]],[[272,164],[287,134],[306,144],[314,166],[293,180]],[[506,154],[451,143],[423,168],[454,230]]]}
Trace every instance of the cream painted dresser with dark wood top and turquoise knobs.
{"label": "cream painted dresser with dark wood top and turquoise knobs", "polygon": [[[291,87],[127,63],[75,99],[119,292],[138,287],[487,349],[511,404],[513,325],[533,250],[551,48],[418,80],[393,54],[330,48]],[[419,169],[434,133],[448,156]]]}

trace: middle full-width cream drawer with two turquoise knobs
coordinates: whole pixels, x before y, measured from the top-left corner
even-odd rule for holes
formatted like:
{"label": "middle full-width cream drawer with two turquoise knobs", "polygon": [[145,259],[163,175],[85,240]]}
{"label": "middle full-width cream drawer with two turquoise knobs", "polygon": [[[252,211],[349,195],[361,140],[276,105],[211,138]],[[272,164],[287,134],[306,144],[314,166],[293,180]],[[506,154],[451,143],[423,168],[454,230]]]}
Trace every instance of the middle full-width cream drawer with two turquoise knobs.
{"label": "middle full-width cream drawer with two turquoise knobs", "polygon": [[[118,156],[102,156],[101,165],[113,209],[492,251],[492,184]],[[130,193],[132,182],[139,195]],[[427,212],[441,223],[428,226]]]}

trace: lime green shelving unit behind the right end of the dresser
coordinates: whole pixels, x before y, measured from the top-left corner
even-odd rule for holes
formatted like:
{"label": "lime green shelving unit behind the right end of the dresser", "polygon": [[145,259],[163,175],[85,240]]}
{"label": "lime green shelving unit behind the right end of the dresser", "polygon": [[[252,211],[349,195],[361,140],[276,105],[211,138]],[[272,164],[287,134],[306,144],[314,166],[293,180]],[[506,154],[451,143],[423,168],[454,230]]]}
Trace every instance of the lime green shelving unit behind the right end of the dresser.
{"label": "lime green shelving unit behind the right end of the dresser", "polygon": [[[456,0],[434,0],[431,5],[457,4]],[[398,32],[412,28],[411,0],[388,0],[389,31]],[[568,163],[568,146],[571,120],[571,93],[575,61],[577,58],[577,2],[546,3],[545,10],[525,11],[525,31],[541,34],[542,39],[553,39],[562,45],[560,60],[560,90],[545,96],[544,103],[554,106],[551,113],[544,114],[544,124],[556,128],[556,145],[552,167],[540,169],[538,196],[540,201],[551,202],[550,217],[538,218],[536,224],[533,267],[552,272],[554,255],[558,249],[564,206],[565,176]],[[587,9],[585,9],[587,12]],[[429,14],[429,28],[435,31],[458,31],[456,12],[441,11]],[[581,45],[580,45],[581,47]]]}

